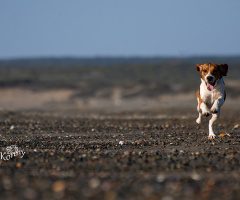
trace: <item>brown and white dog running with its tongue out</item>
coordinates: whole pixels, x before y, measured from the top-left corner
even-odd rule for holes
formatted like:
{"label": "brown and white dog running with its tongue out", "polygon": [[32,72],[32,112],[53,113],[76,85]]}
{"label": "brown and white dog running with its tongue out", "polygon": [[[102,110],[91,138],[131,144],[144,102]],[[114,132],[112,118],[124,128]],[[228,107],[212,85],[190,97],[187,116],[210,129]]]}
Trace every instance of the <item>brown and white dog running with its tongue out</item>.
{"label": "brown and white dog running with its tongue out", "polygon": [[209,139],[214,139],[213,123],[220,116],[220,109],[223,105],[226,92],[223,82],[223,76],[227,76],[227,64],[206,63],[196,65],[197,71],[201,74],[201,85],[196,96],[198,101],[197,110],[199,117],[196,122],[201,123],[202,116],[208,117],[212,113],[212,118],[209,120]]}

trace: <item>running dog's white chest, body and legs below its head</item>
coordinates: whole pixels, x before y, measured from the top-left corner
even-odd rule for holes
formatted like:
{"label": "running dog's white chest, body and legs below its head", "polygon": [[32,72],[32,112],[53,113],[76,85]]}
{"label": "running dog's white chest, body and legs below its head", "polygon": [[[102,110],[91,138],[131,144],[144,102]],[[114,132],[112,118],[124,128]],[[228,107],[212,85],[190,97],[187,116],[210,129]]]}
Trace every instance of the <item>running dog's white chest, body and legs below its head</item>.
{"label": "running dog's white chest, body and legs below its head", "polygon": [[200,124],[202,115],[207,116],[206,114],[209,115],[210,112],[212,113],[212,118],[209,120],[209,139],[213,139],[216,136],[213,132],[213,123],[220,116],[220,109],[224,103],[224,91],[225,86],[222,78],[216,81],[212,91],[207,89],[205,80],[201,79],[200,96],[203,102],[200,105],[200,109],[202,110],[202,113],[200,113],[200,110],[198,109],[199,117],[197,118],[196,122]]}

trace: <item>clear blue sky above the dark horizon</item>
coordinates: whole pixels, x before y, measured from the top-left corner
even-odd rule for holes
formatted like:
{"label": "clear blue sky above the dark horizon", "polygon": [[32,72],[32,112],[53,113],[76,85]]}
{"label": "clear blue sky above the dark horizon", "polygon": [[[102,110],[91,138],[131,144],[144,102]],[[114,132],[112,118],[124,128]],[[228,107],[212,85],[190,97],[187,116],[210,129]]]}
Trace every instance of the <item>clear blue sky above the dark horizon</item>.
{"label": "clear blue sky above the dark horizon", "polygon": [[0,59],[240,55],[238,0],[0,1]]}

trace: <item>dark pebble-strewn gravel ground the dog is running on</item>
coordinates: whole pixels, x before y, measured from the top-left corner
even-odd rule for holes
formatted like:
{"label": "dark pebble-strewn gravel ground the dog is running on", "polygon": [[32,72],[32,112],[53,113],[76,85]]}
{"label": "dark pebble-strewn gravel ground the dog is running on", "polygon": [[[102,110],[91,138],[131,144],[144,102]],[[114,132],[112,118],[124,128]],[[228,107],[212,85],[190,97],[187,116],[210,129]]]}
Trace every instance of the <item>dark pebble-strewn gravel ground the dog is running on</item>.
{"label": "dark pebble-strewn gravel ground the dog is running on", "polygon": [[236,110],[76,113],[0,112],[0,199],[240,199]]}

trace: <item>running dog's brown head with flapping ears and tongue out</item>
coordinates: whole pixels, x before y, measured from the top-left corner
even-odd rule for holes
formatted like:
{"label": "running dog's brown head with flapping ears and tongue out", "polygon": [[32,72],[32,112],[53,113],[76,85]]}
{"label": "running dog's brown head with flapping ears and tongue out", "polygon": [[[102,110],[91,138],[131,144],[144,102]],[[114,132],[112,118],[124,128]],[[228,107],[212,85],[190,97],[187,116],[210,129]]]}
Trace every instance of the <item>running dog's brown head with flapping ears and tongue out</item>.
{"label": "running dog's brown head with flapping ears and tongue out", "polygon": [[227,76],[227,64],[206,63],[196,65],[197,71],[201,73],[202,80],[206,83],[207,89],[212,91],[218,80],[222,76]]}

